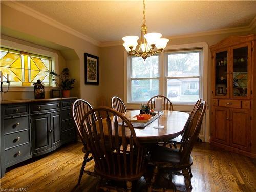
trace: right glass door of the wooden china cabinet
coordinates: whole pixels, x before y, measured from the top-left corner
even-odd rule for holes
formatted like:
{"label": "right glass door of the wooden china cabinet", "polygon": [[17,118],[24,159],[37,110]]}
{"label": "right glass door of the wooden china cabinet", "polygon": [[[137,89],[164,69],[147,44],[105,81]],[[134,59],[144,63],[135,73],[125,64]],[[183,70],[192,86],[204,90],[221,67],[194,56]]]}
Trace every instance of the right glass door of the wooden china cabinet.
{"label": "right glass door of the wooden china cabinet", "polygon": [[250,98],[250,43],[231,48],[231,98]]}

